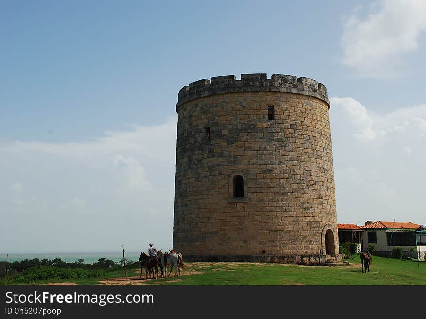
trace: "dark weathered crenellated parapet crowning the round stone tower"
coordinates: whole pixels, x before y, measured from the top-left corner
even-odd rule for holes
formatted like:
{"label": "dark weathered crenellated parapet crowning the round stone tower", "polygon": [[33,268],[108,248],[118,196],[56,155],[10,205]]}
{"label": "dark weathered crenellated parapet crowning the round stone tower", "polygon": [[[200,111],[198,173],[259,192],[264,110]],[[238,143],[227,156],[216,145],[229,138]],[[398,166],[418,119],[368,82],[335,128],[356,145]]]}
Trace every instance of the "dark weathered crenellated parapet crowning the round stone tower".
{"label": "dark weathered crenellated parapet crowning the round stone tower", "polygon": [[307,77],[297,78],[296,76],[276,73],[268,79],[266,78],[266,73],[248,73],[242,74],[241,80],[237,80],[234,75],[216,76],[212,77],[210,81],[202,79],[184,86],[179,90],[176,110],[183,103],[200,97],[226,93],[264,91],[313,96],[327,103],[328,108],[330,108],[326,87],[315,80]]}

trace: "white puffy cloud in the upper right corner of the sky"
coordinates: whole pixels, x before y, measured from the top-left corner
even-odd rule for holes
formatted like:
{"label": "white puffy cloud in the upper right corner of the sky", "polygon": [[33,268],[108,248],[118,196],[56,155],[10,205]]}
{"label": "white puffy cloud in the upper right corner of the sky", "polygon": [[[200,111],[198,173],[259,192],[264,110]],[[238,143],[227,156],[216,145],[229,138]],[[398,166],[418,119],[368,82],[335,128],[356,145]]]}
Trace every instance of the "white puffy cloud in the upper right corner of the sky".
{"label": "white puffy cloud in the upper right corner of the sky", "polygon": [[382,0],[370,9],[374,12],[365,18],[355,12],[344,22],[343,63],[361,76],[396,76],[401,56],[419,48],[426,30],[426,1]]}

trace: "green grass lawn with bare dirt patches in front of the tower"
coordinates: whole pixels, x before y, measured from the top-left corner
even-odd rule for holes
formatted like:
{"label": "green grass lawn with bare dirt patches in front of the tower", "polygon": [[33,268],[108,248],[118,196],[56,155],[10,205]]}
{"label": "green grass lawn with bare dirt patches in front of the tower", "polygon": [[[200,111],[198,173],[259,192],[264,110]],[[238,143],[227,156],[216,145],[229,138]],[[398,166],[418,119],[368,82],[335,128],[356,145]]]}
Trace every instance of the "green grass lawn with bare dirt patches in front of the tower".
{"label": "green grass lawn with bare dirt patches in front of the tower", "polygon": [[373,256],[370,273],[361,273],[359,256],[346,261],[350,265],[345,267],[187,263],[185,272],[181,272],[179,277],[173,277],[172,273],[172,277],[151,280],[139,280],[139,268],[135,264],[127,268],[127,281],[117,281],[124,277],[124,271],[116,269],[107,271],[102,278],[44,280],[33,284],[75,282],[77,285],[96,285],[100,281],[111,280],[114,284],[148,285],[426,285],[425,262],[418,268],[417,262],[410,260]]}

